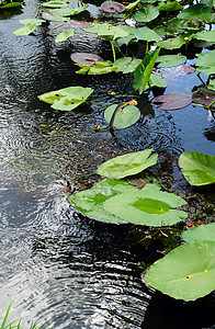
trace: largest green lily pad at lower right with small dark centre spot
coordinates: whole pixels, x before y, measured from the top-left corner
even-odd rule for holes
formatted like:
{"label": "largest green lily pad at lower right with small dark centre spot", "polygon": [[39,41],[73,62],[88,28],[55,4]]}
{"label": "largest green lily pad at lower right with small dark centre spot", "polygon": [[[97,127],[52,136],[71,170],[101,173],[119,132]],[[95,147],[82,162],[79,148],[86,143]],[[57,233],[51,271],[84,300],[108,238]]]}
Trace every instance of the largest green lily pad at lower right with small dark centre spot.
{"label": "largest green lily pad at lower right with small dark centre spot", "polygon": [[185,243],[157,261],[144,277],[177,299],[195,300],[215,288],[215,241]]}

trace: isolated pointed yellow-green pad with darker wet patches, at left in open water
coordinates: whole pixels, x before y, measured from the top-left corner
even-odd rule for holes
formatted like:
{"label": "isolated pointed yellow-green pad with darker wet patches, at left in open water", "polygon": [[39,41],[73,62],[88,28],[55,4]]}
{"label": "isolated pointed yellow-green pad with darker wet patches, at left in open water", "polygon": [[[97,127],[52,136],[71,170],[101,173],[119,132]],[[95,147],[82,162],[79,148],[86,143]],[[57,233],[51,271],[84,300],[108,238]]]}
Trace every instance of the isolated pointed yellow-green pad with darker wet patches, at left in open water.
{"label": "isolated pointed yellow-green pad with darker wet patches, at left in open water", "polygon": [[52,104],[55,110],[71,111],[84,103],[92,92],[91,88],[68,87],[41,94],[38,99]]}

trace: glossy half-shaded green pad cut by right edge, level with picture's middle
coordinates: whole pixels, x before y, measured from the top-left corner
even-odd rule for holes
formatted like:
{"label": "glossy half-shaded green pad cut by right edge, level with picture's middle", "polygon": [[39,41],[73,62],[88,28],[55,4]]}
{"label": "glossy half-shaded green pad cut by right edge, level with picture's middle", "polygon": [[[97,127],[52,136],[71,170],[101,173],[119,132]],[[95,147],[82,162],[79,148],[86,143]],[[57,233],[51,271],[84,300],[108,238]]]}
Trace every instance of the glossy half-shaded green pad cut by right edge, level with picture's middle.
{"label": "glossy half-shaded green pad cut by right edge, level with picture's middle", "polygon": [[188,151],[180,156],[179,166],[191,185],[215,183],[215,157],[202,152]]}

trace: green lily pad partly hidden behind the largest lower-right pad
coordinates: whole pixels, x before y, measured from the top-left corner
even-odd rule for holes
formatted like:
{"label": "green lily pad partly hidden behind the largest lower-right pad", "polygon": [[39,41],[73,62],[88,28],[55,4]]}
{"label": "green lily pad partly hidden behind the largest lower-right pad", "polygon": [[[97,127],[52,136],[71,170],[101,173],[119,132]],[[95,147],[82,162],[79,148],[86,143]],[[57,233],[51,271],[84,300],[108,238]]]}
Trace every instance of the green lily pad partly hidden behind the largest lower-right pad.
{"label": "green lily pad partly hidden behind the largest lower-right pad", "polygon": [[205,240],[215,241],[215,223],[200,225],[189,228],[182,234],[183,240],[186,242],[202,242]]}

